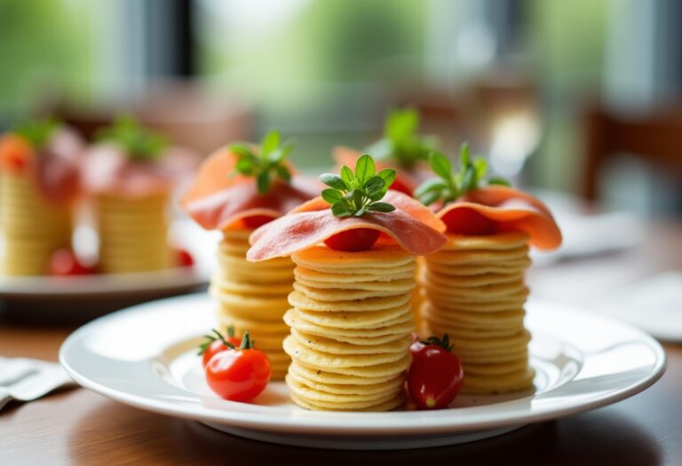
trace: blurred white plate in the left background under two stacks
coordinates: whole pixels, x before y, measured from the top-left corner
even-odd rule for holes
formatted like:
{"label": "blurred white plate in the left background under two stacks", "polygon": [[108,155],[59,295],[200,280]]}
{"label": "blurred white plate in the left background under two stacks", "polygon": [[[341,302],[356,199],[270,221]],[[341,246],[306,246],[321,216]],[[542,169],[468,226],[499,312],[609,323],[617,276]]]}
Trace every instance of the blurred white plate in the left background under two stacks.
{"label": "blurred white plate in the left background under two stacks", "polygon": [[[194,257],[191,268],[158,272],[88,275],[82,277],[9,277],[0,275],[0,298],[45,299],[144,294],[186,291],[208,283],[215,268],[214,232],[205,232],[185,221],[173,225],[174,244],[187,249]],[[85,238],[84,241],[88,241]]]}

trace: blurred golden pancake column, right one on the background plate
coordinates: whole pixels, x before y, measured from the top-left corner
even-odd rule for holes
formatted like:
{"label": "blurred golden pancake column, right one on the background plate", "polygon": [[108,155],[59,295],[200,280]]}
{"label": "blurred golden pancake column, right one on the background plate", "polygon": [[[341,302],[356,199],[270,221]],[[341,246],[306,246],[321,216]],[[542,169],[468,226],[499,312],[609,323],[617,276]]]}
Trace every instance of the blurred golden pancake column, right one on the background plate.
{"label": "blurred golden pancake column, right one on the background plate", "polygon": [[150,272],[171,267],[168,194],[97,198],[99,263],[102,272]]}

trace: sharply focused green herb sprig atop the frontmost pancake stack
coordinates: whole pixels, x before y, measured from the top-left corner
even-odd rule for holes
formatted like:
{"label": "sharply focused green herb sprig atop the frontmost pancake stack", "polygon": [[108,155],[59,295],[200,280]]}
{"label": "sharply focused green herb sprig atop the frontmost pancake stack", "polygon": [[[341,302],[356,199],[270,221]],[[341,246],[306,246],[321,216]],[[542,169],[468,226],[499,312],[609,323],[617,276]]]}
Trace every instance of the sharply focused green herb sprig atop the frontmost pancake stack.
{"label": "sharply focused green herb sprig atop the frontmost pancake stack", "polygon": [[377,165],[369,154],[355,162],[355,173],[345,165],[341,176],[324,173],[320,180],[329,188],[322,191],[322,199],[331,204],[337,217],[362,217],[368,212],[393,212],[395,207],[380,200],[393,184],[395,170],[384,169],[377,173]]}

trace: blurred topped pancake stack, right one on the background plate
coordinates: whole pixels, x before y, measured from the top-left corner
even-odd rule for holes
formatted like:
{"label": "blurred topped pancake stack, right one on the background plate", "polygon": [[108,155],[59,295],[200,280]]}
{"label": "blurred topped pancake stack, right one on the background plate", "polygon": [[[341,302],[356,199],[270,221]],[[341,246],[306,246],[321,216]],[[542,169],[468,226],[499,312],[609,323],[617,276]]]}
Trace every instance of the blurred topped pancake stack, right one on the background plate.
{"label": "blurred topped pancake stack, right one on the background plate", "polygon": [[168,209],[174,179],[162,136],[122,119],[100,131],[85,181],[94,198],[99,267],[105,273],[149,272],[174,264]]}

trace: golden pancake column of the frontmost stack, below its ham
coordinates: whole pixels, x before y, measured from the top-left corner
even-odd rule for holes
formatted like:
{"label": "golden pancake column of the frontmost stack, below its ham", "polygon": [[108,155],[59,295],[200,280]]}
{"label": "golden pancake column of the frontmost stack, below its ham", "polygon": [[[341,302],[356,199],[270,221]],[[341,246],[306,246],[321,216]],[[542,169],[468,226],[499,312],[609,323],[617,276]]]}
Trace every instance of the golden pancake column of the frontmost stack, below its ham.
{"label": "golden pancake column of the frontmost stack, below its ham", "polygon": [[361,252],[316,246],[291,258],[293,309],[284,316],[291,399],[326,411],[400,406],[415,329],[415,257],[384,245]]}

